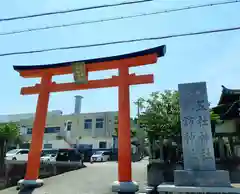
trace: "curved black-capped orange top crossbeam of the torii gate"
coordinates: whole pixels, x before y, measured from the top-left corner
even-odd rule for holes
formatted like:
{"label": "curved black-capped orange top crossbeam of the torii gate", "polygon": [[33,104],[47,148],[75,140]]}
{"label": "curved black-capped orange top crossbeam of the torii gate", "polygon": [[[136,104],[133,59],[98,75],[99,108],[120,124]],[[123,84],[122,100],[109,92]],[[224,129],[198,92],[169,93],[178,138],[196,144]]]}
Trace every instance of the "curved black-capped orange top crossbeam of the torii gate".
{"label": "curved black-capped orange top crossbeam of the torii gate", "polygon": [[72,74],[71,65],[76,62],[85,63],[88,72],[117,69],[119,66],[134,67],[153,64],[157,62],[158,57],[163,57],[165,52],[166,46],[162,45],[143,51],[112,57],[87,59],[83,61],[72,61],[51,65],[13,66],[13,68],[14,70],[18,71],[22,77],[36,78],[42,77],[45,71],[50,71],[52,75]]}

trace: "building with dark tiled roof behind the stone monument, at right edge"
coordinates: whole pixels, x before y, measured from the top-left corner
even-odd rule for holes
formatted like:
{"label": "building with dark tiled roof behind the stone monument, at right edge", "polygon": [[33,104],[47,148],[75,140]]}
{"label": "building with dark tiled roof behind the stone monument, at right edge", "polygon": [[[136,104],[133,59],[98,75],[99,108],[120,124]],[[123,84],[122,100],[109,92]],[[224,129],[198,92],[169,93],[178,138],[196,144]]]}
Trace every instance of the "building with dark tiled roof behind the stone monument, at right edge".
{"label": "building with dark tiled roof behind the stone monument, at right edge", "polygon": [[222,120],[213,131],[215,136],[218,137],[218,142],[220,142],[220,157],[233,155],[226,149],[240,157],[240,90],[222,86],[222,94],[218,105],[213,107],[212,110],[220,115]]}

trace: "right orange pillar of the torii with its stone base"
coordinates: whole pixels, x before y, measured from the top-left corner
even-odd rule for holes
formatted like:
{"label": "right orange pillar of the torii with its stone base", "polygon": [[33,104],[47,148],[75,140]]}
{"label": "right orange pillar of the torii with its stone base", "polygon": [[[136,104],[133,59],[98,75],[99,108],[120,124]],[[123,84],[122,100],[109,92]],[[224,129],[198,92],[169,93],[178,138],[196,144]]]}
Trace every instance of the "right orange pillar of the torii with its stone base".
{"label": "right orange pillar of the torii with its stone base", "polygon": [[[156,55],[156,58],[157,57]],[[132,83],[130,80],[131,75],[129,75],[129,68],[130,67],[127,65],[118,67],[118,181],[113,183],[112,191],[119,194],[134,194],[139,189],[138,184],[132,181],[129,95],[129,86]],[[134,76],[134,74],[132,75]],[[137,79],[135,81],[137,81]],[[153,83],[153,76],[151,83]]]}

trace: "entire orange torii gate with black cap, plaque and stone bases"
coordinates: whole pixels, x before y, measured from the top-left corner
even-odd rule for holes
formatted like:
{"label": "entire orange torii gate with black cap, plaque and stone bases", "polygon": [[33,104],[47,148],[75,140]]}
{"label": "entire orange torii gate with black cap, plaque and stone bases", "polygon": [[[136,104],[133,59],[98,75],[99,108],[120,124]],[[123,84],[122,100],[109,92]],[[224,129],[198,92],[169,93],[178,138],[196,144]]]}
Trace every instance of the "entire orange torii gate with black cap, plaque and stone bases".
{"label": "entire orange torii gate with black cap, plaque and stone bases", "polygon": [[[38,179],[40,155],[50,92],[86,90],[95,88],[118,87],[118,182],[113,184],[113,191],[135,192],[138,186],[132,182],[131,174],[131,137],[130,137],[130,102],[129,86],[153,83],[153,75],[129,74],[129,67],[153,64],[158,57],[165,55],[166,46],[159,46],[135,53],[113,57],[89,59],[51,65],[14,66],[24,78],[41,78],[40,84],[23,87],[22,95],[38,94],[35,120],[32,130],[32,142],[28,155],[27,171],[22,186],[39,186],[43,182]],[[118,69],[119,75],[109,79],[88,80],[88,73],[93,71]],[[52,82],[56,75],[74,74],[75,82]]]}

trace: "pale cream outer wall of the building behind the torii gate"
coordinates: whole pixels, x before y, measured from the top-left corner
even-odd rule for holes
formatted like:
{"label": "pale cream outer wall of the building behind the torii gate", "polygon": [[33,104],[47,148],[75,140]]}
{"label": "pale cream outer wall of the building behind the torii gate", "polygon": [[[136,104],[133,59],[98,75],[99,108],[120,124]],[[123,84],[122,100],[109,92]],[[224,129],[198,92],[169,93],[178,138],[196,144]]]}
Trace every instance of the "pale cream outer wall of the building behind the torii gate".
{"label": "pale cream outer wall of the building behind the torii gate", "polygon": [[[106,140],[107,147],[112,146],[112,134],[114,131],[114,118],[117,112],[81,113],[78,115],[48,115],[46,121],[47,128],[59,128],[59,132],[45,133],[44,140],[56,140],[60,132],[64,132],[65,122],[71,121],[71,131],[69,133],[71,143],[93,144],[97,148],[99,141]],[[86,124],[86,120],[91,124]],[[101,122],[98,122],[101,120]],[[33,127],[33,118],[20,120],[22,137],[25,141],[31,140],[31,134],[27,134],[28,129]],[[89,141],[89,143],[87,143]],[[111,142],[111,145],[110,145]]]}

